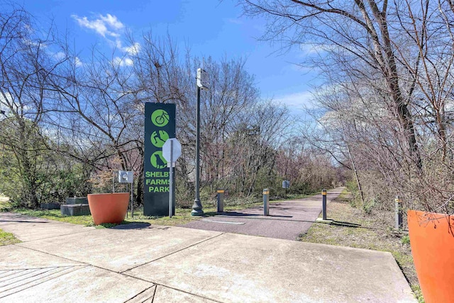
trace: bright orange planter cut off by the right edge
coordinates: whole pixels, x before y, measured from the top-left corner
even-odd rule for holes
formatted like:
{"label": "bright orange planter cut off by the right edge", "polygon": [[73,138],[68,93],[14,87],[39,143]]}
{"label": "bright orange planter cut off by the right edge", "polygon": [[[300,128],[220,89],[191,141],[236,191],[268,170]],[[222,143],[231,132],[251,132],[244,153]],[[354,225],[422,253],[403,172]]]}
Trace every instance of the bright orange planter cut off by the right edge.
{"label": "bright orange planter cut off by the right edge", "polygon": [[454,302],[453,216],[407,212],[411,254],[426,303]]}

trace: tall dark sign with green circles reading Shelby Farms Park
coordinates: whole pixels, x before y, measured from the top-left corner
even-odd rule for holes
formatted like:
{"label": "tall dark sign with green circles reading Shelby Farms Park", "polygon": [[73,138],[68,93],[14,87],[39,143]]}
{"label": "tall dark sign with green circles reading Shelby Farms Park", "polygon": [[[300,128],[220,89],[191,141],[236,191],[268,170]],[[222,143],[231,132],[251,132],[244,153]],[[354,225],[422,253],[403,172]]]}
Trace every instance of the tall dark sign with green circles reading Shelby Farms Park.
{"label": "tall dark sign with green circles reading Shelby Farms Park", "polygon": [[[145,216],[169,215],[170,174],[167,160],[162,155],[162,145],[169,138],[175,138],[175,104],[145,103],[145,162],[143,165],[143,214]],[[175,173],[173,176],[175,178]],[[172,183],[175,184],[175,180]],[[175,201],[172,204],[172,212],[175,214]]]}

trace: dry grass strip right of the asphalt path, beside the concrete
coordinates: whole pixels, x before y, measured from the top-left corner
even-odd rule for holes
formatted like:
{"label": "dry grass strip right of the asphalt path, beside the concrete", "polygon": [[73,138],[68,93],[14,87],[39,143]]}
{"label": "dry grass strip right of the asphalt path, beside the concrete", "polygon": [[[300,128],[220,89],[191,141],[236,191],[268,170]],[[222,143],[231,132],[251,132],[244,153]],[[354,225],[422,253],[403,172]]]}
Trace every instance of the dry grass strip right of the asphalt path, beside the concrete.
{"label": "dry grass strip right of the asphalt path, beside the concrete", "polygon": [[396,232],[387,228],[383,217],[394,213],[376,216],[365,214],[361,209],[352,207],[353,197],[344,189],[341,195],[327,205],[328,219],[333,224],[313,224],[309,231],[299,235],[299,241],[323,243],[336,246],[349,246],[392,253],[397,264],[409,281],[411,290],[420,303],[423,303],[421,289],[414,269],[413,257],[407,232]]}

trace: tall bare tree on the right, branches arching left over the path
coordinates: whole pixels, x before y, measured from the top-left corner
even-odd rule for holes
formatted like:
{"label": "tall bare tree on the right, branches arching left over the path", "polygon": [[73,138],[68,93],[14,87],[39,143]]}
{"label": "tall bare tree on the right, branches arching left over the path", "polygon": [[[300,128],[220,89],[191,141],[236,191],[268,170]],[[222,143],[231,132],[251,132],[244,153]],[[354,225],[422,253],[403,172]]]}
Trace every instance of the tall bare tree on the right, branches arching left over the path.
{"label": "tall bare tree on the right, branches arching left over the path", "polygon": [[[389,100],[404,131],[411,158],[421,169],[414,117],[409,110],[411,94],[402,89],[402,73],[393,45],[396,5],[388,1],[240,1],[250,16],[267,16],[267,33],[263,38],[279,40],[285,45],[309,44],[326,51],[322,59],[336,64],[343,73],[381,79],[380,89]],[[341,62],[340,66],[338,63]],[[358,67],[359,69],[356,68]],[[333,66],[333,65],[331,65]],[[370,72],[365,72],[367,67]],[[366,75],[365,75],[366,73]]]}

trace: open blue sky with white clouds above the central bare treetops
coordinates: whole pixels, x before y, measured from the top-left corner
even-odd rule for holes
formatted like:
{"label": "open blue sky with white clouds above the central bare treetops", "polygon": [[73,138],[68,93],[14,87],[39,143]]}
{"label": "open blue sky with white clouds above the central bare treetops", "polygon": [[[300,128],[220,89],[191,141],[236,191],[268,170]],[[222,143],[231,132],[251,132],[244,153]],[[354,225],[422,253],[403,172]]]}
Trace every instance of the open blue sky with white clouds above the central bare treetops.
{"label": "open blue sky with white clouds above the central bare treetops", "polygon": [[[318,84],[316,72],[301,70],[294,63],[308,55],[294,48],[279,55],[279,48],[257,38],[265,31],[265,21],[241,16],[233,0],[25,0],[24,8],[42,24],[51,19],[62,33],[74,39],[76,49],[89,53],[96,45],[110,55],[113,48],[127,50],[125,31],[139,37],[169,33],[192,55],[247,59],[246,69],[255,75],[263,98],[272,98],[290,109],[308,105],[311,84]],[[128,62],[126,62],[128,63]],[[195,75],[195,71],[194,71]]]}

